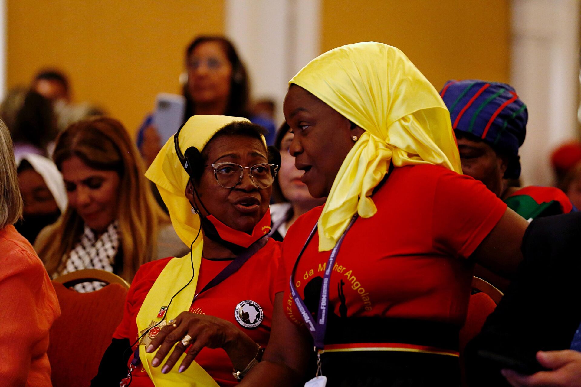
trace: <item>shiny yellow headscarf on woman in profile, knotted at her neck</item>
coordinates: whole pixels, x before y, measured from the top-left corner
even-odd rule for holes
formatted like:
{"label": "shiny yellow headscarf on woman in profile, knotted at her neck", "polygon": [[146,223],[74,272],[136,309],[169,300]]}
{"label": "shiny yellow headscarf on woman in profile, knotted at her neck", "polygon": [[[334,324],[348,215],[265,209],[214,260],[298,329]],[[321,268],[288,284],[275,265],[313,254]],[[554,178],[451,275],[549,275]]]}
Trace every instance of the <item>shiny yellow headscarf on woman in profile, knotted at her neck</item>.
{"label": "shiny yellow headscarf on woman in profile, knotted at her neck", "polygon": [[356,212],[375,214],[370,196],[390,161],[462,173],[446,105],[399,49],[376,42],[342,46],[312,60],[291,84],[365,131],[343,161],[318,220],[319,251],[335,246]]}

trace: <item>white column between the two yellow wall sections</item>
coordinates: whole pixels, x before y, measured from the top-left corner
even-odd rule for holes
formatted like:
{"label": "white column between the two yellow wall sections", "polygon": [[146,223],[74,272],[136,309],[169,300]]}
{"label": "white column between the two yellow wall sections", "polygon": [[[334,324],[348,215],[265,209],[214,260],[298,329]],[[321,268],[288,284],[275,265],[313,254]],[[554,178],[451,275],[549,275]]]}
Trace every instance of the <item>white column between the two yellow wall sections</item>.
{"label": "white column between the two yellow wall sections", "polygon": [[252,96],[274,100],[278,122],[289,79],[319,54],[320,1],[225,1],[225,35],[246,64]]}

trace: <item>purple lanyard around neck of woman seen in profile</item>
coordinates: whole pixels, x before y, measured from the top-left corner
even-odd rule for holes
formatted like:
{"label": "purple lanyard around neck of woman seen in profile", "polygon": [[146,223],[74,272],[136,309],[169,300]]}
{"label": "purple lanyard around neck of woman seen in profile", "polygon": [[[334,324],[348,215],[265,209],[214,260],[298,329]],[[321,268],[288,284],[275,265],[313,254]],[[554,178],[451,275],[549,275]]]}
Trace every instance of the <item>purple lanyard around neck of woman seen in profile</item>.
{"label": "purple lanyard around neck of woman seen in profile", "polygon": [[319,297],[319,309],[317,312],[317,320],[313,319],[313,316],[307,309],[307,306],[304,305],[304,301],[300,298],[299,293],[296,291],[295,284],[293,284],[293,279],[295,278],[295,272],[297,266],[299,266],[300,257],[303,255],[304,250],[309,245],[311,239],[315,232],[317,232],[317,225],[313,227],[313,231],[309,234],[309,238],[307,238],[306,243],[304,243],[303,249],[300,251],[299,256],[296,259],[295,267],[292,269],[292,274],[290,274],[290,292],[292,293],[292,298],[295,300],[295,304],[297,308],[299,308],[299,312],[301,316],[303,316],[304,323],[309,328],[309,332],[311,336],[313,336],[315,348],[323,349],[325,347],[325,331],[327,330],[327,314],[329,310],[329,282],[331,280],[331,272],[333,271],[333,266],[335,266],[335,259],[337,258],[337,254],[339,253],[339,248],[343,243],[343,238],[355,223],[357,219],[357,214],[353,215],[351,218],[351,222],[349,222],[349,226],[343,232],[342,236],[339,238],[335,247],[333,247],[331,251],[331,255],[329,255],[329,260],[327,261],[327,267],[325,267],[325,274],[323,276],[323,283],[321,285],[321,295]]}

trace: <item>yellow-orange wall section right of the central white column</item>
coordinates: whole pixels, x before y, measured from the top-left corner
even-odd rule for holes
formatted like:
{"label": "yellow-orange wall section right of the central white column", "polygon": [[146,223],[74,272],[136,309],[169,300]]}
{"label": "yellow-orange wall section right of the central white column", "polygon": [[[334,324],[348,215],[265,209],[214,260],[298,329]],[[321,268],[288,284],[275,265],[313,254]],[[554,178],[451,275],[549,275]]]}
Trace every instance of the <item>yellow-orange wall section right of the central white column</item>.
{"label": "yellow-orange wall section right of the central white column", "polygon": [[448,79],[509,81],[506,0],[322,0],[321,49],[377,41],[401,49],[440,90]]}

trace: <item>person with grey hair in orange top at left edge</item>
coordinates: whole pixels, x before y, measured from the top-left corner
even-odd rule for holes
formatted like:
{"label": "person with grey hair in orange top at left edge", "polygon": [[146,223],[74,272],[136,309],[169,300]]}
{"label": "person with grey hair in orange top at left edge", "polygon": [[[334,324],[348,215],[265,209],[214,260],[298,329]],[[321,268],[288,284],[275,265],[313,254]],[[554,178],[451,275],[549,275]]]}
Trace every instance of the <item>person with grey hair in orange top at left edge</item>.
{"label": "person with grey hair in orange top at left edge", "polygon": [[0,381],[3,386],[51,386],[48,331],[60,308],[44,265],[13,226],[22,207],[12,139],[0,120]]}

